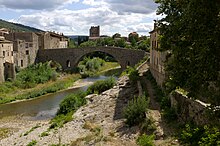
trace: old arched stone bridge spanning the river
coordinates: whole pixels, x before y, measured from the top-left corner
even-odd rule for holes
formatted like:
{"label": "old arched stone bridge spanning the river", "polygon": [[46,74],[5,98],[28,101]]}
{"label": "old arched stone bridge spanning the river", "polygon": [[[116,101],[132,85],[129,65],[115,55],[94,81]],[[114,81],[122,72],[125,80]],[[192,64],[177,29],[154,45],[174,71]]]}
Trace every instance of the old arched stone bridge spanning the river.
{"label": "old arched stone bridge spanning the river", "polygon": [[104,52],[113,56],[122,69],[126,69],[127,66],[134,66],[146,55],[146,52],[142,50],[118,47],[60,48],[39,50],[36,61],[46,62],[53,60],[60,63],[65,70],[76,67],[82,57],[92,52]]}

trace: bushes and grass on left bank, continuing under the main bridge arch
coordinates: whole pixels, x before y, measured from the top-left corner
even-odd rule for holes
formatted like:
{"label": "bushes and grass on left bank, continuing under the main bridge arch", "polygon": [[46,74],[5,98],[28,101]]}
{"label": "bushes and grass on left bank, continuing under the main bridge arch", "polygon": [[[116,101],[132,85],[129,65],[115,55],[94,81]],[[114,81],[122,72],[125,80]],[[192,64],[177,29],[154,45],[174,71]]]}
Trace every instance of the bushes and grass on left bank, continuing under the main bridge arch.
{"label": "bushes and grass on left bank, continuing under the main bridge arch", "polygon": [[117,67],[118,63],[105,62],[100,58],[85,58],[79,66],[84,71],[81,75],[77,72],[74,74],[61,72],[61,66],[52,61],[30,65],[22,70],[17,69],[15,80],[0,84],[0,104],[31,99],[66,89],[80,77],[85,77],[85,74],[97,75],[106,69]]}

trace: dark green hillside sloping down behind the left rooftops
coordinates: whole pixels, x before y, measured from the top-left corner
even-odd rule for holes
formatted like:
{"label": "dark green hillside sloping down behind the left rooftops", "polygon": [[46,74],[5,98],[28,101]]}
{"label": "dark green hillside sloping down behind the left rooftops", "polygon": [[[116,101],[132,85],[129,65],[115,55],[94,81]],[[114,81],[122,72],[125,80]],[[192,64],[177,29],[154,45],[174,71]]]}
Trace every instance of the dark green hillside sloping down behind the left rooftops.
{"label": "dark green hillside sloping down behind the left rooftops", "polygon": [[0,28],[7,28],[11,31],[16,31],[16,32],[40,32],[43,30],[34,28],[34,27],[30,27],[30,26],[25,26],[22,24],[18,24],[18,23],[12,23],[12,22],[8,22],[5,20],[0,19]]}

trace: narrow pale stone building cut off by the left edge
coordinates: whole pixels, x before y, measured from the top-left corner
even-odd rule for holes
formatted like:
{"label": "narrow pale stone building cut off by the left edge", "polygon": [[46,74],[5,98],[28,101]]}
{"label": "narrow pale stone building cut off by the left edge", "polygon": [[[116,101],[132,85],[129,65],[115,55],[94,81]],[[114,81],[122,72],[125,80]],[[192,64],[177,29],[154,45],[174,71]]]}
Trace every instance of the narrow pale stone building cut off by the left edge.
{"label": "narrow pale stone building cut off by the left edge", "polygon": [[15,77],[13,43],[3,36],[6,31],[0,30],[0,83]]}

